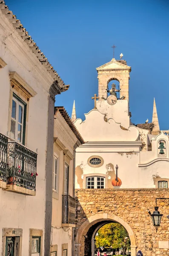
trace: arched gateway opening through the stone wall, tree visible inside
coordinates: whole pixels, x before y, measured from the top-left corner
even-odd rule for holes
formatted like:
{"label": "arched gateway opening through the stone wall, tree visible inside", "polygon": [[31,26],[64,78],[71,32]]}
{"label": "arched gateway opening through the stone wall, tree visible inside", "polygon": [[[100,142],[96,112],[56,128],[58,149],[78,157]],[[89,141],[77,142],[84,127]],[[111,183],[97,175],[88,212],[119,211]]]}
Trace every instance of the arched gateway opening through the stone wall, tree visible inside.
{"label": "arched gateway opening through the stone wall, tree visible inside", "polygon": [[130,244],[129,234],[123,225],[111,220],[99,221],[84,236],[84,255],[97,256],[97,250],[100,250],[100,256],[104,253],[131,255]]}

